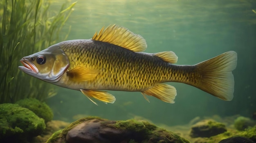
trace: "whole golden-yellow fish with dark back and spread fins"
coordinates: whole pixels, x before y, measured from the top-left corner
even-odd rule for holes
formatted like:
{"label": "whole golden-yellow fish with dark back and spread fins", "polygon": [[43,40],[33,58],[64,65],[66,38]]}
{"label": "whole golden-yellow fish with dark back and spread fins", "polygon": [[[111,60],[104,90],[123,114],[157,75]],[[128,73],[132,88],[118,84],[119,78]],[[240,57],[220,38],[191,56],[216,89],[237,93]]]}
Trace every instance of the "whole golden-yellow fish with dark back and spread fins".
{"label": "whole golden-yellow fish with dark back and spread fins", "polygon": [[107,91],[141,92],[174,103],[175,87],[182,82],[222,100],[234,95],[237,53],[228,51],[195,65],[175,65],[172,51],[146,53],[146,40],[123,26],[111,24],[95,32],[92,39],[62,41],[23,57],[18,68],[40,80],[81,91],[93,99],[114,103]]}

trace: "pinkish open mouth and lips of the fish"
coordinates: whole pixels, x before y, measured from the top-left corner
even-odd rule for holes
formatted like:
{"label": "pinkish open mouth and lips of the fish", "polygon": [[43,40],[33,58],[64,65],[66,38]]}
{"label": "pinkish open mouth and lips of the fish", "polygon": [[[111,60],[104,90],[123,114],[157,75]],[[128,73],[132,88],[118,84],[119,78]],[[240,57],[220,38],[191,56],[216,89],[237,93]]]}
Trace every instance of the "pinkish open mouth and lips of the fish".
{"label": "pinkish open mouth and lips of the fish", "polygon": [[30,72],[33,74],[38,74],[38,69],[37,67],[31,63],[29,60],[27,60],[26,58],[22,58],[20,60],[20,63],[22,63],[23,66],[19,66],[19,69],[25,71],[25,72]]}

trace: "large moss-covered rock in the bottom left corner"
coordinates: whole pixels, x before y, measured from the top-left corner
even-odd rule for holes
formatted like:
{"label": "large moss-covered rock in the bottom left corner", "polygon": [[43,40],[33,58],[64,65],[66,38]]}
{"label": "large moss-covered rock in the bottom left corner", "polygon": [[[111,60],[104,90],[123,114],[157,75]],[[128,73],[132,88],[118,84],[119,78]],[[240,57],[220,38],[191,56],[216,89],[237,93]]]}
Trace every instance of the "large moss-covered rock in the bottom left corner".
{"label": "large moss-covered rock in the bottom left corner", "polygon": [[18,104],[0,104],[0,141],[22,142],[45,130],[45,121]]}

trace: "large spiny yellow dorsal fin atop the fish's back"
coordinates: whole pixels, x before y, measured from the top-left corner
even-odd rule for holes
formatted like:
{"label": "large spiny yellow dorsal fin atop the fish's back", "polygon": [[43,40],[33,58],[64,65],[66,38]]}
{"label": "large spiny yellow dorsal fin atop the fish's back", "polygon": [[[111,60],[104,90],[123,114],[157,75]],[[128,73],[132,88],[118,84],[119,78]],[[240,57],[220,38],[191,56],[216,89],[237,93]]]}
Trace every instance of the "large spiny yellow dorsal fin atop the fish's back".
{"label": "large spiny yellow dorsal fin atop the fish's back", "polygon": [[118,45],[133,52],[142,52],[147,48],[143,37],[115,24],[109,25],[105,30],[104,27],[101,28],[99,33],[95,32],[92,40]]}

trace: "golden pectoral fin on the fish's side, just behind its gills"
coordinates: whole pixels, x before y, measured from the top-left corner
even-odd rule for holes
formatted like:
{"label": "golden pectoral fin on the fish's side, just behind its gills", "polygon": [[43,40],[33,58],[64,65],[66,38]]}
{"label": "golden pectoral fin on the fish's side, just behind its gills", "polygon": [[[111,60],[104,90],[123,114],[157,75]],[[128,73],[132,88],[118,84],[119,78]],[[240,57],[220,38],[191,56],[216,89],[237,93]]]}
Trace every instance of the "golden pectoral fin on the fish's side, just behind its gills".
{"label": "golden pectoral fin on the fish's side, just behind its gills", "polygon": [[75,67],[67,72],[67,76],[71,80],[90,81],[99,74],[99,69],[90,69],[89,67]]}

